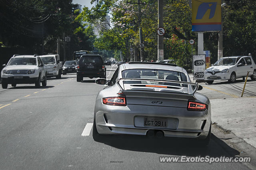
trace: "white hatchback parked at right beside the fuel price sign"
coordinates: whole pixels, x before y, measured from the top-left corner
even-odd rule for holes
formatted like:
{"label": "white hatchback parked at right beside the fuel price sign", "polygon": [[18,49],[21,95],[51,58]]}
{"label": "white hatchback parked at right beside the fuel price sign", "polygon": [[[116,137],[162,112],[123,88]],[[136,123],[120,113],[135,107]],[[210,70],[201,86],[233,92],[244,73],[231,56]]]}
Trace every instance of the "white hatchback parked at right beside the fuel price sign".
{"label": "white hatchback parked at right beside the fuel price sign", "polygon": [[212,84],[214,80],[235,82],[237,78],[249,76],[256,79],[256,65],[251,56],[223,57],[204,71],[204,80]]}

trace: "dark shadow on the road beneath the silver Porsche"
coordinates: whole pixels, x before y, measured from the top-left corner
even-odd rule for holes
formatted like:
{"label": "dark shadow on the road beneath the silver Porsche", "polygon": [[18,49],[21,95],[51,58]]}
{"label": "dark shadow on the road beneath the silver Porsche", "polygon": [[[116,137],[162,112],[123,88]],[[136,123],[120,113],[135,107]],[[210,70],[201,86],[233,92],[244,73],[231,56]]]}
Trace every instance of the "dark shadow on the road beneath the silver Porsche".
{"label": "dark shadow on the road beneath the silver Porsche", "polygon": [[97,142],[122,150],[152,152],[179,156],[236,156],[240,152],[231,148],[214,134],[211,141],[204,147],[195,139],[162,138],[155,139],[140,135],[103,135]]}

